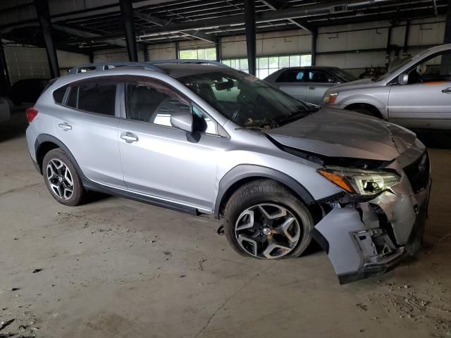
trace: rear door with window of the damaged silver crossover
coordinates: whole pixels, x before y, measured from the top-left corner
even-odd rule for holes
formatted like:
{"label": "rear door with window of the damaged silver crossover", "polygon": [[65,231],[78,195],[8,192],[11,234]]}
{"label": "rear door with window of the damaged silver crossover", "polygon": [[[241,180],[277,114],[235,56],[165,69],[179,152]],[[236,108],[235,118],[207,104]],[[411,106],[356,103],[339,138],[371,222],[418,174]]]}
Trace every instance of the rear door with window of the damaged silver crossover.
{"label": "rear door with window of the damaged silver crossover", "polygon": [[107,80],[94,77],[70,84],[54,115],[54,134],[73,154],[89,180],[123,188],[117,92],[114,77]]}

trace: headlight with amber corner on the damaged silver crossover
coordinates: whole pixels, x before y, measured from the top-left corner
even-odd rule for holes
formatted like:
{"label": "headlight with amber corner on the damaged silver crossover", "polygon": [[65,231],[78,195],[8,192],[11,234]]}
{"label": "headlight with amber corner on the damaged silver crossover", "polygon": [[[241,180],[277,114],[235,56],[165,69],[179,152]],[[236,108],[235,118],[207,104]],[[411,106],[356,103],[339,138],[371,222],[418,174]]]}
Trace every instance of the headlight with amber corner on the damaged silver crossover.
{"label": "headlight with amber corner on the damaged silver crossover", "polygon": [[327,180],[349,192],[369,196],[390,189],[401,181],[400,175],[390,171],[370,171],[347,169],[340,167],[326,167],[316,170]]}

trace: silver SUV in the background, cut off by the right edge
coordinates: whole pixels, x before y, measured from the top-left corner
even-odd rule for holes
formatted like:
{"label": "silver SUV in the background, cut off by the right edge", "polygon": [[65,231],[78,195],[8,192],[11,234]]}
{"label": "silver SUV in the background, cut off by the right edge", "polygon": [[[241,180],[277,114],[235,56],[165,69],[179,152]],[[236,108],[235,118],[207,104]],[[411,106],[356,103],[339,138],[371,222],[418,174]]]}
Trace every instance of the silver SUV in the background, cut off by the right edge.
{"label": "silver SUV in the background, cut off by the right edge", "polygon": [[338,84],[323,103],[404,127],[451,130],[451,44],[406,58],[379,78]]}

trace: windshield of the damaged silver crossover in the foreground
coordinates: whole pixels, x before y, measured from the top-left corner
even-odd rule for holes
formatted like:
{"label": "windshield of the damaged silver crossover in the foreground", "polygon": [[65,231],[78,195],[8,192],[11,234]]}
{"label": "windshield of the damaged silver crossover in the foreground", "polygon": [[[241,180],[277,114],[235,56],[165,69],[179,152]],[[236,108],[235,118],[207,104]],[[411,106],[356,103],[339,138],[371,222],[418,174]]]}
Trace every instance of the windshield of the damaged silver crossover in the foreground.
{"label": "windshield of the damaged silver crossover in the foreground", "polygon": [[215,70],[178,80],[241,127],[277,127],[318,109],[237,70]]}

